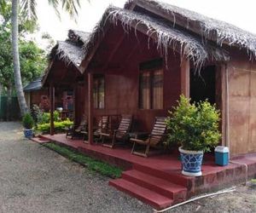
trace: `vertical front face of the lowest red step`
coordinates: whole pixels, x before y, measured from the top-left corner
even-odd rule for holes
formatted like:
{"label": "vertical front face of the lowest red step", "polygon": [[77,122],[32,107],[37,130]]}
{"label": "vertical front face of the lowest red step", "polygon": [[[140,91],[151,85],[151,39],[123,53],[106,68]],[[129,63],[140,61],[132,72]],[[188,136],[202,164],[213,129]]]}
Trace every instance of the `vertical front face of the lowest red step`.
{"label": "vertical front face of the lowest red step", "polygon": [[144,197],[138,195],[137,193],[133,193],[130,190],[127,190],[126,188],[121,187],[118,184],[113,183],[112,181],[109,181],[109,185],[112,186],[112,187],[117,188],[119,191],[121,191],[123,193],[127,193],[127,194],[131,195],[132,197],[135,197],[135,198],[141,200],[145,204],[150,204],[156,210],[162,210],[162,209],[165,209],[165,208],[172,205],[172,202],[170,202],[168,204],[161,204],[161,205],[156,204],[156,203],[152,202],[151,200],[145,199]]}

